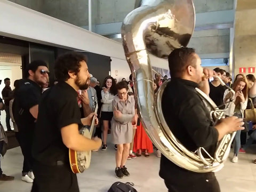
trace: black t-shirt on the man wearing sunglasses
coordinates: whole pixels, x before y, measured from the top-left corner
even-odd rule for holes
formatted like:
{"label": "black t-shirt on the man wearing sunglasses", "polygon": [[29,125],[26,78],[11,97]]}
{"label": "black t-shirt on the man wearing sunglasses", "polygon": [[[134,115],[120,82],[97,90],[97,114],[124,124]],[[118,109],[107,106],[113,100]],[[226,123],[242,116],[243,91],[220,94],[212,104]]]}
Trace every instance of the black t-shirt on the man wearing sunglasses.
{"label": "black t-shirt on the man wearing sunglasses", "polygon": [[29,109],[39,104],[42,89],[34,81],[24,79],[20,88],[15,91],[13,101],[13,117],[19,127],[19,132],[33,133],[36,119],[31,115]]}

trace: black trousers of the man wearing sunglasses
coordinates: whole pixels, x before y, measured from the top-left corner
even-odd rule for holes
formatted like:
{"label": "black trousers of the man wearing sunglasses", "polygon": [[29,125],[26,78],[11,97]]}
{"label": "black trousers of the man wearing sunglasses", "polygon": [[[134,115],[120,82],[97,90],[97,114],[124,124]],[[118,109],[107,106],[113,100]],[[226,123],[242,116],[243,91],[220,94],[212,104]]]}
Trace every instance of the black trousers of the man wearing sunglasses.
{"label": "black trousers of the man wearing sunglasses", "polygon": [[22,176],[25,176],[29,171],[33,171],[33,134],[26,132],[17,132],[15,133],[15,136],[20,144],[21,152],[24,156]]}

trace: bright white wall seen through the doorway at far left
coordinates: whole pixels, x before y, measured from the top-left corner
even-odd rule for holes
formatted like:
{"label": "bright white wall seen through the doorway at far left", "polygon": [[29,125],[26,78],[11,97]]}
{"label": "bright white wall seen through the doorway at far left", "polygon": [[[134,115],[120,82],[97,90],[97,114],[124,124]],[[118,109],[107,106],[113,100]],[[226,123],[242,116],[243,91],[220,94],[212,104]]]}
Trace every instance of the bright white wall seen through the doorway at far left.
{"label": "bright white wall seen through the doorway at far left", "polygon": [[[13,63],[5,63],[0,62],[0,79],[2,80],[2,83],[0,85],[0,95],[3,99],[2,90],[4,89],[4,79],[6,77],[10,78],[11,80],[11,88],[13,89],[13,83],[16,79],[22,78],[22,70],[20,69],[21,63],[15,63],[16,66],[10,66],[13,65]],[[5,111],[1,111],[1,123],[4,126],[4,129],[6,130],[6,123],[5,123]],[[11,127],[13,127],[13,124],[11,123]]]}

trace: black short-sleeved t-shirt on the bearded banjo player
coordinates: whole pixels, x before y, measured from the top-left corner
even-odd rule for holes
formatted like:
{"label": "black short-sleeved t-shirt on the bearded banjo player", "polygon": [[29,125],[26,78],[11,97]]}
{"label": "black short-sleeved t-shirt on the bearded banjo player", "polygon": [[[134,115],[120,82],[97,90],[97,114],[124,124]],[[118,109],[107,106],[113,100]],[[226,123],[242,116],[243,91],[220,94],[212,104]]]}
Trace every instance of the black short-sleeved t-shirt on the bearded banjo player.
{"label": "black short-sleeved t-shirt on the bearded banjo player", "polygon": [[60,130],[73,123],[82,127],[77,92],[66,82],[59,82],[43,93],[39,103],[32,149],[37,162],[45,165],[54,165],[57,161],[68,163],[68,148]]}

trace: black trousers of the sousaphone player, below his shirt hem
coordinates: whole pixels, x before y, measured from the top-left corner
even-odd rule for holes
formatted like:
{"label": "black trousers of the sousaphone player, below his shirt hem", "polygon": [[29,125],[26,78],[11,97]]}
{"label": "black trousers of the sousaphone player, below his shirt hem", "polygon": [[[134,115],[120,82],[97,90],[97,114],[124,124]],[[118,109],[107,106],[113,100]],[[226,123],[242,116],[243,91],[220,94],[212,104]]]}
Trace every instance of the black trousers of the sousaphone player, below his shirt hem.
{"label": "black trousers of the sousaphone player, below his shirt hem", "polygon": [[202,173],[202,177],[186,178],[180,183],[172,180],[164,180],[169,192],[220,192],[219,182],[214,173]]}

